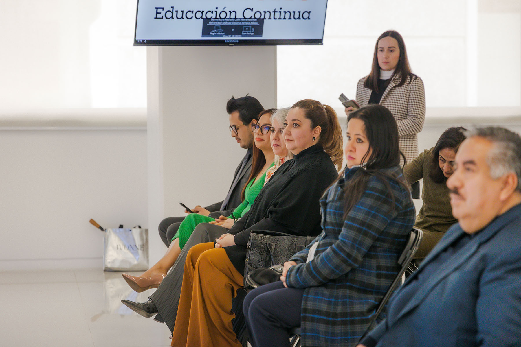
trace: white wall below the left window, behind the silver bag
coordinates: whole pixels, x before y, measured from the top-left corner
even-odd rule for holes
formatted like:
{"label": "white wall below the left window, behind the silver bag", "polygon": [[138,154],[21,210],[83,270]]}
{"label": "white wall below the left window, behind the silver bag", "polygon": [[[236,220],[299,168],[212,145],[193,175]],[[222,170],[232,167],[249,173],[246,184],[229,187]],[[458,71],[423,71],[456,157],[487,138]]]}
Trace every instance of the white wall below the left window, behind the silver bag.
{"label": "white wall below the left window, behind the silver bag", "polygon": [[147,226],[146,172],[144,127],[3,127],[0,271],[102,268],[89,220]]}

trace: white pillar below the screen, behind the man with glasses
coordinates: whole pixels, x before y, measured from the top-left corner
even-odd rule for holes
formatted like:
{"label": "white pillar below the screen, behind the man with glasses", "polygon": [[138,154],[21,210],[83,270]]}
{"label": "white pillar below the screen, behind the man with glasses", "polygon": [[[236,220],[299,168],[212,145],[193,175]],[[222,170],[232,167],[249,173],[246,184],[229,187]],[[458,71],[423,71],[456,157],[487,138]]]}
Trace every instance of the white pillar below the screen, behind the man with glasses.
{"label": "white pillar below the screen, behind the man with glasses", "polygon": [[224,199],[241,149],[230,136],[226,101],[246,94],[277,106],[275,46],[147,47],[150,262],[165,251],[167,216]]}

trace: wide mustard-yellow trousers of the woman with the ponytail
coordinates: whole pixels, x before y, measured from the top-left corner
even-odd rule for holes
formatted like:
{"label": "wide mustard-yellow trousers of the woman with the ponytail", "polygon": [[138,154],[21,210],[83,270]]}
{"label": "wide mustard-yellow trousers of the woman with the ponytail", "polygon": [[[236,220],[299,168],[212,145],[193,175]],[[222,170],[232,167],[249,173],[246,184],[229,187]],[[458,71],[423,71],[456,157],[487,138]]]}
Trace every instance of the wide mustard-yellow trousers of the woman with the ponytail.
{"label": "wide mustard-yellow trousers of the woman with the ponytail", "polygon": [[232,330],[232,298],[243,276],[214,242],[193,246],[184,262],[183,283],[172,333],[173,347],[241,347]]}

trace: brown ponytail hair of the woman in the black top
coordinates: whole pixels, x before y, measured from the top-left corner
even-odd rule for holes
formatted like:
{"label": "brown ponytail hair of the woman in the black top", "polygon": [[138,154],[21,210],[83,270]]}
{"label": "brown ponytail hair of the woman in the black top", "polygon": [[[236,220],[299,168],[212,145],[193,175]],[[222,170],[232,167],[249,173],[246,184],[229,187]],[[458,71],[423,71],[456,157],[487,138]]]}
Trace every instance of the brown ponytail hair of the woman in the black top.
{"label": "brown ponytail hair of the woman in the black top", "polygon": [[331,106],[322,105],[316,100],[300,100],[291,108],[300,108],[304,111],[304,117],[311,121],[311,127],[320,126],[322,129],[318,136],[318,144],[322,145],[340,171],[344,160],[342,145],[342,128],[338,122],[337,112]]}

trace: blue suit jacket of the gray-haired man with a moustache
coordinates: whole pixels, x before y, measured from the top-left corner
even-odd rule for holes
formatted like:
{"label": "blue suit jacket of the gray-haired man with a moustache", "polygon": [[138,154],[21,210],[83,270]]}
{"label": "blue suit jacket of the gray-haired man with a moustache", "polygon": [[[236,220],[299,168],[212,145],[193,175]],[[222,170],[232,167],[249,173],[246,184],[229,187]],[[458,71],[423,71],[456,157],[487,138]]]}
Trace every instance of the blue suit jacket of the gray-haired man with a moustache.
{"label": "blue suit jacket of the gray-haired man with a moustache", "polygon": [[[453,225],[401,290],[462,233]],[[398,312],[362,343],[521,346],[521,204],[476,233]]]}

